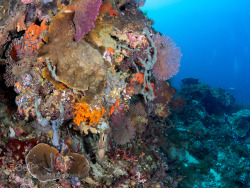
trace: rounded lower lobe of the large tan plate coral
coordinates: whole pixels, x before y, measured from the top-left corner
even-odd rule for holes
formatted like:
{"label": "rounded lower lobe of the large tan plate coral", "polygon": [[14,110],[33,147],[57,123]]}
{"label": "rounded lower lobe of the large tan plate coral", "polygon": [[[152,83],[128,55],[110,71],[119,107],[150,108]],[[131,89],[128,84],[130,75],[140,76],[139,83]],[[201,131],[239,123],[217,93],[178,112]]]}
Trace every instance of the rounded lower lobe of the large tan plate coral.
{"label": "rounded lower lobe of the large tan plate coral", "polygon": [[57,76],[70,88],[95,93],[106,79],[106,67],[101,54],[87,42],[71,43],[73,51],[64,51],[58,58]]}

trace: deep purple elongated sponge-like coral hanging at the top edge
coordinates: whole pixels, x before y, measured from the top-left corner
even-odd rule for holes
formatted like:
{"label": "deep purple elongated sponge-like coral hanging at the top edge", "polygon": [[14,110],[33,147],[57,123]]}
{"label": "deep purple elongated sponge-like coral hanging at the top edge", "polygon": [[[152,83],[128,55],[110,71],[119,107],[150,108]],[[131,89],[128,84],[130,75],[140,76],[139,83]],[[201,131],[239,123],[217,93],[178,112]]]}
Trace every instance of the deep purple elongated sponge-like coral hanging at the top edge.
{"label": "deep purple elongated sponge-like coral hanging at the top edge", "polygon": [[79,0],[75,8],[74,24],[76,27],[75,39],[81,40],[85,34],[95,27],[102,0]]}

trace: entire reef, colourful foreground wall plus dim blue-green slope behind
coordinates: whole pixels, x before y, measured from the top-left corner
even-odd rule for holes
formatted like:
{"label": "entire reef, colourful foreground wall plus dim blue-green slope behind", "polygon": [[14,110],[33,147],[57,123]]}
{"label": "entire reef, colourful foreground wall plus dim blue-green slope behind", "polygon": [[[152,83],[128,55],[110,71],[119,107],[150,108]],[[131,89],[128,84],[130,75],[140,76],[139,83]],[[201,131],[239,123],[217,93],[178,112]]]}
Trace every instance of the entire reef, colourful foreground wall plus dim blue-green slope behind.
{"label": "entire reef, colourful foreground wall plus dim blue-green slope behind", "polygon": [[182,54],[144,3],[0,0],[1,188],[247,185],[250,110],[171,87]]}

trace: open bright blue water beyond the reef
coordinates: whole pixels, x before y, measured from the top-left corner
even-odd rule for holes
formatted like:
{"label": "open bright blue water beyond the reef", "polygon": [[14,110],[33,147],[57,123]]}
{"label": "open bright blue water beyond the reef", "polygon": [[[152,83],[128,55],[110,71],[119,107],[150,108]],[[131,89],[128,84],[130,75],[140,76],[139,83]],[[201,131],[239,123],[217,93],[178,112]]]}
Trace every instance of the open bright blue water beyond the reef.
{"label": "open bright blue water beyond the reef", "polygon": [[250,0],[147,0],[142,10],[181,47],[175,87],[199,78],[250,104]]}

